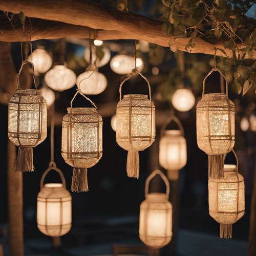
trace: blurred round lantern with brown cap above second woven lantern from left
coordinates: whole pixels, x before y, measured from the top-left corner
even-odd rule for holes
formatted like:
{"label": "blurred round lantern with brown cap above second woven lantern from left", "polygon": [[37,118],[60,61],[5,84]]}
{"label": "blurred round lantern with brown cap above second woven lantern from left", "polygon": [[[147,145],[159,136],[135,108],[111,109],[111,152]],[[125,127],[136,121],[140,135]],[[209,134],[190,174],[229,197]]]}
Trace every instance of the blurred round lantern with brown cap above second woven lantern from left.
{"label": "blurred round lantern with brown cap above second woven lantern from left", "polygon": [[94,65],[89,65],[86,72],[77,77],[76,84],[79,84],[83,94],[96,95],[106,89],[108,81],[102,73],[98,72]]}

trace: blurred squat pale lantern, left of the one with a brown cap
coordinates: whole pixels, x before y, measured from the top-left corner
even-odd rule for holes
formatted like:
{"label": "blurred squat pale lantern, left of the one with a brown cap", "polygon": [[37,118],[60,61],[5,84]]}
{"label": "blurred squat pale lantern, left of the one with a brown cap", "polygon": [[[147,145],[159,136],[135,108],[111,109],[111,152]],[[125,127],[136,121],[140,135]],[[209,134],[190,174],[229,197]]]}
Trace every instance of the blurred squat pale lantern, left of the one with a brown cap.
{"label": "blurred squat pale lantern, left of the one with a brown cap", "polygon": [[56,65],[45,75],[45,82],[55,91],[65,91],[76,83],[76,74],[65,65]]}

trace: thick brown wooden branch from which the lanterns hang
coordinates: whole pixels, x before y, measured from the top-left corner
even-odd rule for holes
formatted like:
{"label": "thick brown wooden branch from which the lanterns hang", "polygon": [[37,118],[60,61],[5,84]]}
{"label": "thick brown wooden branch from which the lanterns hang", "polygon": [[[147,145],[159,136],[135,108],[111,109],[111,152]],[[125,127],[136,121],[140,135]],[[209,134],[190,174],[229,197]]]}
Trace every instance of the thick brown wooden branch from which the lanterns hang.
{"label": "thick brown wooden branch from which the lanterns hang", "polygon": [[[94,29],[95,38],[102,40],[139,39],[164,47],[168,47],[170,41],[181,51],[186,51],[185,46],[190,39],[165,35],[159,20],[134,13],[106,10],[97,4],[83,0],[2,0],[0,1],[0,10],[12,13],[23,11],[28,17],[55,21],[55,23],[47,23],[42,20],[36,23],[32,22],[33,40],[62,37],[87,38],[89,31],[84,27]],[[22,37],[22,30],[18,34],[16,33],[17,31],[6,30],[2,27],[0,40],[18,41]],[[215,45],[209,44],[201,38],[197,38],[195,44],[191,53],[214,55]],[[217,47],[224,49],[222,44],[217,44]],[[225,51],[228,56],[232,56],[230,50]],[[217,55],[222,56],[223,54],[217,51]]]}

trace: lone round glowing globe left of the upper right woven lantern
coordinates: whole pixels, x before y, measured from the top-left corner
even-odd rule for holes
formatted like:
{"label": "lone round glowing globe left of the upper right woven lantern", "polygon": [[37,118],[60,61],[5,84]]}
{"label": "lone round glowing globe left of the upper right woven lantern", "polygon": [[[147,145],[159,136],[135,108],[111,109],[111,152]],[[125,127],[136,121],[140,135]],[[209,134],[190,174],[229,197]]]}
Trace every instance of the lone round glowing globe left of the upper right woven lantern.
{"label": "lone round glowing globe left of the upper right woven lantern", "polygon": [[172,103],[178,111],[189,111],[195,104],[195,96],[186,88],[177,89],[172,97]]}

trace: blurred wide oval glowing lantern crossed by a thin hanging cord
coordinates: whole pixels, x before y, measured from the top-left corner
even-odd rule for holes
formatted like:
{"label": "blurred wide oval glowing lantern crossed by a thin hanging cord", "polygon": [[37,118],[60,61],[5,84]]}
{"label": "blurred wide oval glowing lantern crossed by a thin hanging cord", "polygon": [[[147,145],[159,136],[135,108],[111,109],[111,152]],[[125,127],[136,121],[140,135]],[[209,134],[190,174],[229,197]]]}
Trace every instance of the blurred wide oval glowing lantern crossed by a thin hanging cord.
{"label": "blurred wide oval glowing lantern crossed by a thin hanging cord", "polygon": [[[115,55],[110,61],[110,68],[117,74],[126,75],[131,73],[134,67],[135,60],[133,56],[118,54]],[[136,67],[139,72],[144,68],[144,63],[141,58],[136,58]]]}

